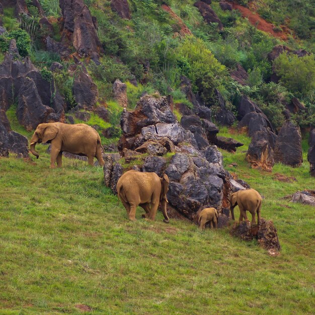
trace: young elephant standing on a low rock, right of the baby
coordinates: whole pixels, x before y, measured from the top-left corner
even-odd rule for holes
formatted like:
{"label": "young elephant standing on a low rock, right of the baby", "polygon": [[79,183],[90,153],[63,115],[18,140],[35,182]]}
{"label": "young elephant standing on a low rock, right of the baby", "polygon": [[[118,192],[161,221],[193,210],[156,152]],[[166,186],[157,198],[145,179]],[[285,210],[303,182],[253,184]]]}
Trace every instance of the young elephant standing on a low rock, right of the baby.
{"label": "young elephant standing on a low rock, right of the baby", "polygon": [[259,225],[260,222],[260,211],[262,206],[262,197],[255,189],[245,189],[245,190],[239,190],[229,197],[229,203],[230,203],[230,211],[232,219],[234,218],[234,207],[239,206],[240,208],[240,219],[239,222],[243,221],[243,218],[245,220],[248,220],[246,211],[251,212],[252,214],[252,225],[256,225],[256,213],[258,217],[257,224]]}

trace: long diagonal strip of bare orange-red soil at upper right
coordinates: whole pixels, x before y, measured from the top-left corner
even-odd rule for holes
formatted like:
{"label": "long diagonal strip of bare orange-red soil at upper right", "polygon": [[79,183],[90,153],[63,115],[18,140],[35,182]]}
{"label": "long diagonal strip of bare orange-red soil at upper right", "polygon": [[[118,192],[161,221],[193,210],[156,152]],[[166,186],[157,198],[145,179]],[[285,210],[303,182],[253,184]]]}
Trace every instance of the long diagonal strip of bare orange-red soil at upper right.
{"label": "long diagonal strip of bare orange-red soil at upper right", "polygon": [[[243,18],[248,18],[250,23],[256,26],[260,31],[269,33],[274,37],[281,38],[282,40],[287,40],[288,32],[284,32],[284,31],[275,32],[274,31],[275,26],[271,23],[268,23],[256,12],[252,12],[250,9],[242,7],[241,5],[236,4],[236,3],[232,3],[232,6],[233,6],[233,9],[237,9],[242,13]],[[282,27],[282,26],[281,28],[287,29],[286,27]]]}

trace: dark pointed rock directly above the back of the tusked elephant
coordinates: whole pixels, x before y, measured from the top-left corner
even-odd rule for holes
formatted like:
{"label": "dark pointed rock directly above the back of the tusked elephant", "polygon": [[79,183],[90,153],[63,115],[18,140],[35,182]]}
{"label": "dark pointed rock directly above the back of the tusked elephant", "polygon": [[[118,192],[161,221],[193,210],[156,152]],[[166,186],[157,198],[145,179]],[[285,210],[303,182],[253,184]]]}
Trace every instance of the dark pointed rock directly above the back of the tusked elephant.
{"label": "dark pointed rock directly above the back of the tusked elephant", "polygon": [[73,97],[80,109],[94,109],[98,98],[98,89],[85,65],[74,57],[75,65],[69,70],[73,73]]}

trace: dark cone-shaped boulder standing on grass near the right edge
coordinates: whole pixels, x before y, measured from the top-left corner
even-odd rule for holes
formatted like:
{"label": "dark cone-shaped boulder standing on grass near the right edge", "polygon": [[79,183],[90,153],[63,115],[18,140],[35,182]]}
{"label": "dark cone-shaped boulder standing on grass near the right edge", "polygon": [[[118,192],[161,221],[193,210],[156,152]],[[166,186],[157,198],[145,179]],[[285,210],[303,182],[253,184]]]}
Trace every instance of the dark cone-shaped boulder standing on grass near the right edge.
{"label": "dark cone-shaped boulder standing on grass near the right edge", "polygon": [[301,132],[287,120],[281,127],[274,149],[275,162],[292,167],[299,167],[303,162]]}

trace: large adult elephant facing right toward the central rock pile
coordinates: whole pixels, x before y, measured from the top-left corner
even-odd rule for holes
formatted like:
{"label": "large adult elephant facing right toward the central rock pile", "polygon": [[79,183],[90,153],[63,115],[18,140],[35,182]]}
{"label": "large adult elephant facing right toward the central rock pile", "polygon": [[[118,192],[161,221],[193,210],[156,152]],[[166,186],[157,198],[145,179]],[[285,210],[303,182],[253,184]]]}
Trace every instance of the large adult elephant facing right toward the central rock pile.
{"label": "large adult elephant facing right toward the central rock pile", "polygon": [[[157,207],[161,202],[164,222],[169,223],[170,218],[166,211],[170,180],[164,174],[162,178],[155,173],[130,170],[124,173],[117,182],[118,198],[127,210],[131,221],[135,221],[136,207],[139,205],[146,212],[142,217],[154,220]],[[151,207],[150,207],[151,205]]]}

